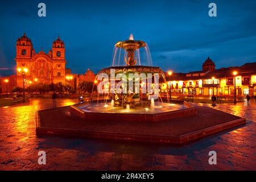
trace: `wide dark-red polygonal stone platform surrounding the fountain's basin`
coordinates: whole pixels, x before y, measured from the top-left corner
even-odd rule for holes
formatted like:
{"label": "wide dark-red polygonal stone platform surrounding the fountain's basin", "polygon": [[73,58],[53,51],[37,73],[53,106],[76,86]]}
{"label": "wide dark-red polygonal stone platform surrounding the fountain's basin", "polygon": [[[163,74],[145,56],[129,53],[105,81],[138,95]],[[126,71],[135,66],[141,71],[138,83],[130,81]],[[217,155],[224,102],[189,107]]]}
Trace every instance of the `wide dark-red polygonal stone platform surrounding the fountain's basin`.
{"label": "wide dark-red polygonal stone platform surrounding the fountain's basin", "polygon": [[246,120],[209,107],[196,106],[197,113],[170,118],[162,122],[97,121],[78,117],[70,106],[39,110],[36,113],[36,134],[64,137],[128,140],[184,144],[220,131],[243,126]]}

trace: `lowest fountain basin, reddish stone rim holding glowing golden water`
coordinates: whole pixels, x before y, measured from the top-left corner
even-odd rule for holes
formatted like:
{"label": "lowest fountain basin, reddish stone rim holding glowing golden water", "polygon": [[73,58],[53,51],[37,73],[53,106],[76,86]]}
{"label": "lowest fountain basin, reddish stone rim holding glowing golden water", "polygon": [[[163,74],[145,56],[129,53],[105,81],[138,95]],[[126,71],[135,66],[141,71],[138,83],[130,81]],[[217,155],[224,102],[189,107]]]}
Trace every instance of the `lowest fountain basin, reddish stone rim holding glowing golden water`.
{"label": "lowest fountain basin, reddish stone rim holding glowing golden water", "polygon": [[134,121],[134,122],[160,122],[171,118],[187,117],[197,113],[196,107],[187,102],[162,103],[155,102],[154,108],[150,106],[137,106],[134,109],[114,107],[110,103],[77,104],[71,106],[71,113],[90,121]]}

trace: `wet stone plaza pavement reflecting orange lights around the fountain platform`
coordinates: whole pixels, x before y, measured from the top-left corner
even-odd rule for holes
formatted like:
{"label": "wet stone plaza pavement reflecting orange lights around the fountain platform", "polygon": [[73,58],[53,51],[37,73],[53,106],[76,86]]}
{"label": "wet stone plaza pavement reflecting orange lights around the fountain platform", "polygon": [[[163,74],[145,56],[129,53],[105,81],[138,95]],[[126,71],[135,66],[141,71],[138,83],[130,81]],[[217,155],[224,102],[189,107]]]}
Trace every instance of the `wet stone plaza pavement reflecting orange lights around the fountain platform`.
{"label": "wet stone plaza pavement reflecting orange lights around the fountain platform", "polygon": [[[77,100],[57,100],[57,106]],[[216,109],[245,117],[247,125],[212,135],[185,146],[117,142],[111,140],[36,137],[35,111],[52,107],[50,99],[0,107],[1,170],[240,170],[256,169],[256,103],[223,104]],[[197,104],[213,107],[207,104]],[[54,122],[54,121],[52,121]],[[38,152],[46,151],[46,165]],[[217,165],[208,163],[217,152]]]}

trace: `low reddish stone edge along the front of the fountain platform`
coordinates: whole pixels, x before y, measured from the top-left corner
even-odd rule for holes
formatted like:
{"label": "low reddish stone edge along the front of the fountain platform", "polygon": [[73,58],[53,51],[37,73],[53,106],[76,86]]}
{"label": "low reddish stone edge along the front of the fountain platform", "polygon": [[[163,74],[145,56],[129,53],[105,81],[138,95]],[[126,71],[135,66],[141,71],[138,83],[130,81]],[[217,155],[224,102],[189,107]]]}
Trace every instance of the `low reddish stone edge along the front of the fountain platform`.
{"label": "low reddish stone edge along the front of the fountain platform", "polygon": [[192,140],[200,139],[208,135],[218,133],[220,131],[228,130],[236,126],[245,125],[246,120],[243,118],[234,121],[222,123],[208,127],[206,129],[187,133],[180,136],[161,136],[161,135],[139,135],[128,133],[102,132],[102,131],[84,131],[71,129],[51,129],[45,127],[37,127],[36,134],[43,135],[63,135],[69,137],[80,138],[96,138],[96,139],[112,139],[112,140],[130,140],[138,142],[154,142],[154,143],[169,143],[169,144],[184,144]]}

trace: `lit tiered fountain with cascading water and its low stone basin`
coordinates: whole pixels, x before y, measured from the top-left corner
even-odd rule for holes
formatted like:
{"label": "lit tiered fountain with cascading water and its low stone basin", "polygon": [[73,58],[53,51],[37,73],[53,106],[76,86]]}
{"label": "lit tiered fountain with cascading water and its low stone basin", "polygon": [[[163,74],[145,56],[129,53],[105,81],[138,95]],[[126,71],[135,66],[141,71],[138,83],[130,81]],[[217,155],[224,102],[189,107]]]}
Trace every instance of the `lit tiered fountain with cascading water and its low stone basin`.
{"label": "lit tiered fountain with cascading water and its low stone basin", "polygon": [[[99,86],[98,90],[99,88],[104,88],[104,91],[106,90],[106,92],[98,92],[96,98],[93,98],[92,94],[90,99],[91,102],[89,102],[89,104],[77,107],[76,109],[80,111],[80,117],[81,113],[83,113],[83,118],[92,120],[97,120],[101,117],[102,119],[112,119],[112,121],[120,121],[120,118],[122,118],[122,121],[158,122],[166,121],[169,118],[193,115],[196,113],[195,108],[188,108],[190,106],[184,105],[182,102],[168,102],[168,94],[166,94],[167,97],[165,98],[165,101],[167,102],[162,100],[161,95],[158,93],[159,89],[156,87],[158,85],[155,80],[159,78],[159,82],[166,82],[164,72],[159,67],[138,65],[140,63],[137,62],[137,60],[141,59],[138,50],[140,48],[147,48],[145,42],[142,40],[134,40],[133,36],[130,36],[129,40],[117,42],[115,48],[125,50],[123,56],[125,65],[101,69],[96,77],[97,81],[94,82],[93,88],[94,86],[98,87],[98,83],[104,81],[101,80],[102,78],[100,77],[100,75],[104,74],[108,77],[107,84]],[[147,48],[146,50],[148,53],[149,49]],[[117,51],[114,51],[114,57],[116,57],[116,52]],[[150,57],[151,59],[151,56],[147,57]],[[130,73],[133,75],[144,74],[146,77],[144,80],[141,77],[136,80],[134,77],[130,78]],[[119,84],[118,81],[120,80],[115,80],[119,74],[127,76],[129,84],[131,82],[132,85],[130,87],[130,85],[124,85],[122,82],[121,92],[118,92],[117,90],[117,85]],[[156,75],[159,77],[155,77]],[[106,81],[106,78],[104,79]],[[154,84],[148,82],[148,79],[154,80]],[[144,88],[150,90],[142,92]],[[157,98],[152,97],[153,93]],[[100,97],[103,99],[100,100]]]}

